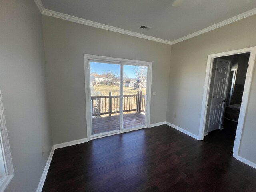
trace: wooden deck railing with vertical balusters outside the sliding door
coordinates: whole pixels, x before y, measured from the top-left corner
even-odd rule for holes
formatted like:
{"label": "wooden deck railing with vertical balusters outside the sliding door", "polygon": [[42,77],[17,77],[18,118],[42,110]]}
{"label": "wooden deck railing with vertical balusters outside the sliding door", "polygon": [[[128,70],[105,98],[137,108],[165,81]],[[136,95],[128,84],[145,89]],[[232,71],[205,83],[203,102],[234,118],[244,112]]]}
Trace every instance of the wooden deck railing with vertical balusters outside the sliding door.
{"label": "wooden deck railing with vertical balusters outside the sliding door", "polygon": [[[119,113],[120,96],[112,96],[111,91],[108,96],[93,96],[92,99],[92,116],[109,115]],[[142,91],[138,94],[123,96],[124,112],[145,112],[146,97]]]}

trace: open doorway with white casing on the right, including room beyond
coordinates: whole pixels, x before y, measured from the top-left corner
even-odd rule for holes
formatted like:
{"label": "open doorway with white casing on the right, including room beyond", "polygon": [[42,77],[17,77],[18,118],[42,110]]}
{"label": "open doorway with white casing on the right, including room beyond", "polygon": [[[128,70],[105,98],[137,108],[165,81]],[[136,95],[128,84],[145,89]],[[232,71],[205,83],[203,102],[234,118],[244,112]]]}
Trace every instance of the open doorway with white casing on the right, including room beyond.
{"label": "open doorway with white casing on the right, including room beyond", "polygon": [[252,47],[208,56],[199,139],[222,129],[225,134],[235,133],[235,158],[239,158],[255,54]]}

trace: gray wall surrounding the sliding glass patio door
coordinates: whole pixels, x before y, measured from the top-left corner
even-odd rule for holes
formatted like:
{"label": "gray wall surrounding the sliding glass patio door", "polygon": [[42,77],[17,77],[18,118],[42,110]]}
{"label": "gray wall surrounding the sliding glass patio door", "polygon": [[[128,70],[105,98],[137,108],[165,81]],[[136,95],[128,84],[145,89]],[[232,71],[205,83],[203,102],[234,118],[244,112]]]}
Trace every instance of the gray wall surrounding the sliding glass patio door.
{"label": "gray wall surrounding the sliding glass patio door", "polygon": [[166,120],[171,46],[43,16],[54,144],[86,138],[84,54],[153,62],[150,124]]}

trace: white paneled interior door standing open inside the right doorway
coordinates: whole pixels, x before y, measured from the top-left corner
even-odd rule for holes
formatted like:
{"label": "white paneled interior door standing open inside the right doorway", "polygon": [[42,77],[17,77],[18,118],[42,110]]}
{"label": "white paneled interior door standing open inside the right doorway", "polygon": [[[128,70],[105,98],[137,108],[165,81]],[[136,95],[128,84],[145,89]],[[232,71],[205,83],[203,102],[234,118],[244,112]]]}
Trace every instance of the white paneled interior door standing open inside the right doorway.
{"label": "white paneled interior door standing open inside the right doorway", "polygon": [[208,132],[219,129],[222,123],[230,63],[229,60],[220,58],[216,62]]}

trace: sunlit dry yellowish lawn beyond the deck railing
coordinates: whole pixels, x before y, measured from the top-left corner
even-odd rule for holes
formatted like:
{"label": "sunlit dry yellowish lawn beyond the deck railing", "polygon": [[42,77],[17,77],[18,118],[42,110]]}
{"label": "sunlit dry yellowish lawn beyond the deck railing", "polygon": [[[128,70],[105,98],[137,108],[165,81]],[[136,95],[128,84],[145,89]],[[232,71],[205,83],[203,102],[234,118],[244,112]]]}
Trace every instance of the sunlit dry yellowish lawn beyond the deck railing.
{"label": "sunlit dry yellowish lawn beyond the deck railing", "polygon": [[[123,87],[124,89],[124,95],[134,95],[137,94],[138,90],[134,90],[133,87]],[[94,86],[94,90],[99,91],[102,93],[102,96],[108,96],[109,92],[111,91],[112,95],[120,95],[120,87],[119,86],[114,86],[114,85],[96,85]],[[146,88],[143,88],[142,90],[142,94],[145,95],[146,94]]]}

